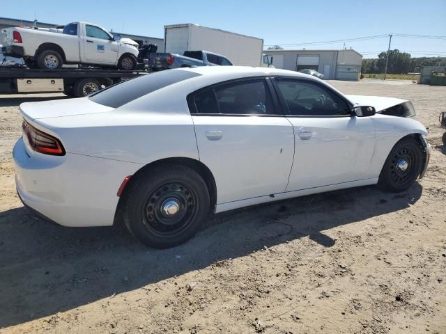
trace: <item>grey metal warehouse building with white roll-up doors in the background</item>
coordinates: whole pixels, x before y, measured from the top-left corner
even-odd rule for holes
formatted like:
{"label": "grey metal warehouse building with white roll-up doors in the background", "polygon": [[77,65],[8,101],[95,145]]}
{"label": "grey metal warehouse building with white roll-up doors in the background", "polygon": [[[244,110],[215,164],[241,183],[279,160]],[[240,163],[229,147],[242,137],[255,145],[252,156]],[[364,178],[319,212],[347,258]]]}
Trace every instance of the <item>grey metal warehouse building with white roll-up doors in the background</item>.
{"label": "grey metal warehouse building with white roll-up doors in the background", "polygon": [[272,65],[284,70],[311,69],[321,72],[324,79],[359,80],[362,54],[343,50],[265,50],[272,56]]}

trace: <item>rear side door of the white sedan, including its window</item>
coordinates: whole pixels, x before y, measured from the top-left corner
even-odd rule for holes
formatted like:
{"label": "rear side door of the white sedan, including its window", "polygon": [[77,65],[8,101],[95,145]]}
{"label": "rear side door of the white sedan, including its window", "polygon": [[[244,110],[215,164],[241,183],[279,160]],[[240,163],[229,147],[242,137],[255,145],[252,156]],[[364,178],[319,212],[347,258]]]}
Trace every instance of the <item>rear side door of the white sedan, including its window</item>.
{"label": "rear side door of the white sedan, including its window", "polygon": [[187,102],[200,160],[215,177],[217,204],[285,191],[293,163],[293,127],[276,113],[277,99],[267,79],[204,88]]}

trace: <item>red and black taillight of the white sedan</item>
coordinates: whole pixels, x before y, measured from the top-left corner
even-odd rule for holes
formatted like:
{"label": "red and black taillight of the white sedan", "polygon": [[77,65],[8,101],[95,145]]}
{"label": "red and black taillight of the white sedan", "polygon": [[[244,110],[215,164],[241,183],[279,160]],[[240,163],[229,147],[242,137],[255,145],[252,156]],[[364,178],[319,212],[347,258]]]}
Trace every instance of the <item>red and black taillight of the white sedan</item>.
{"label": "red and black taillight of the white sedan", "polygon": [[59,139],[41,132],[26,120],[23,121],[22,129],[24,136],[28,138],[29,145],[36,152],[49,155],[65,155],[65,150]]}

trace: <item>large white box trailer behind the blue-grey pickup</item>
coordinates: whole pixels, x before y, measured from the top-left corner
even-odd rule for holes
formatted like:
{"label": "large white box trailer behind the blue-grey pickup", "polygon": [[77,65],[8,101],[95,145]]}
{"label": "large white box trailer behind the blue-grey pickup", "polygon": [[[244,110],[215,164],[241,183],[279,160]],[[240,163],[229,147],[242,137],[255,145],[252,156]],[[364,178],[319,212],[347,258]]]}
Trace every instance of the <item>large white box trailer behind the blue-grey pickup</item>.
{"label": "large white box trailer behind the blue-grey pickup", "polygon": [[261,66],[263,40],[197,24],[164,26],[164,52],[206,50],[221,54],[233,65]]}

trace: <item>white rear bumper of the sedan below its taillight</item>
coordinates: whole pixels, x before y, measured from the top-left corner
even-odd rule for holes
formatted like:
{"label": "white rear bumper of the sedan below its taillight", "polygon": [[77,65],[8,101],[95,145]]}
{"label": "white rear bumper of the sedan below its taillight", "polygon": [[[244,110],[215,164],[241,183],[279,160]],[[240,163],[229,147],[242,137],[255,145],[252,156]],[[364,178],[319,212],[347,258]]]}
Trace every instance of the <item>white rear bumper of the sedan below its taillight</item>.
{"label": "white rear bumper of the sedan below its taillight", "polygon": [[13,149],[15,184],[33,211],[63,226],[113,225],[116,191],[135,164],[67,153],[63,157],[27,150],[22,138]]}

